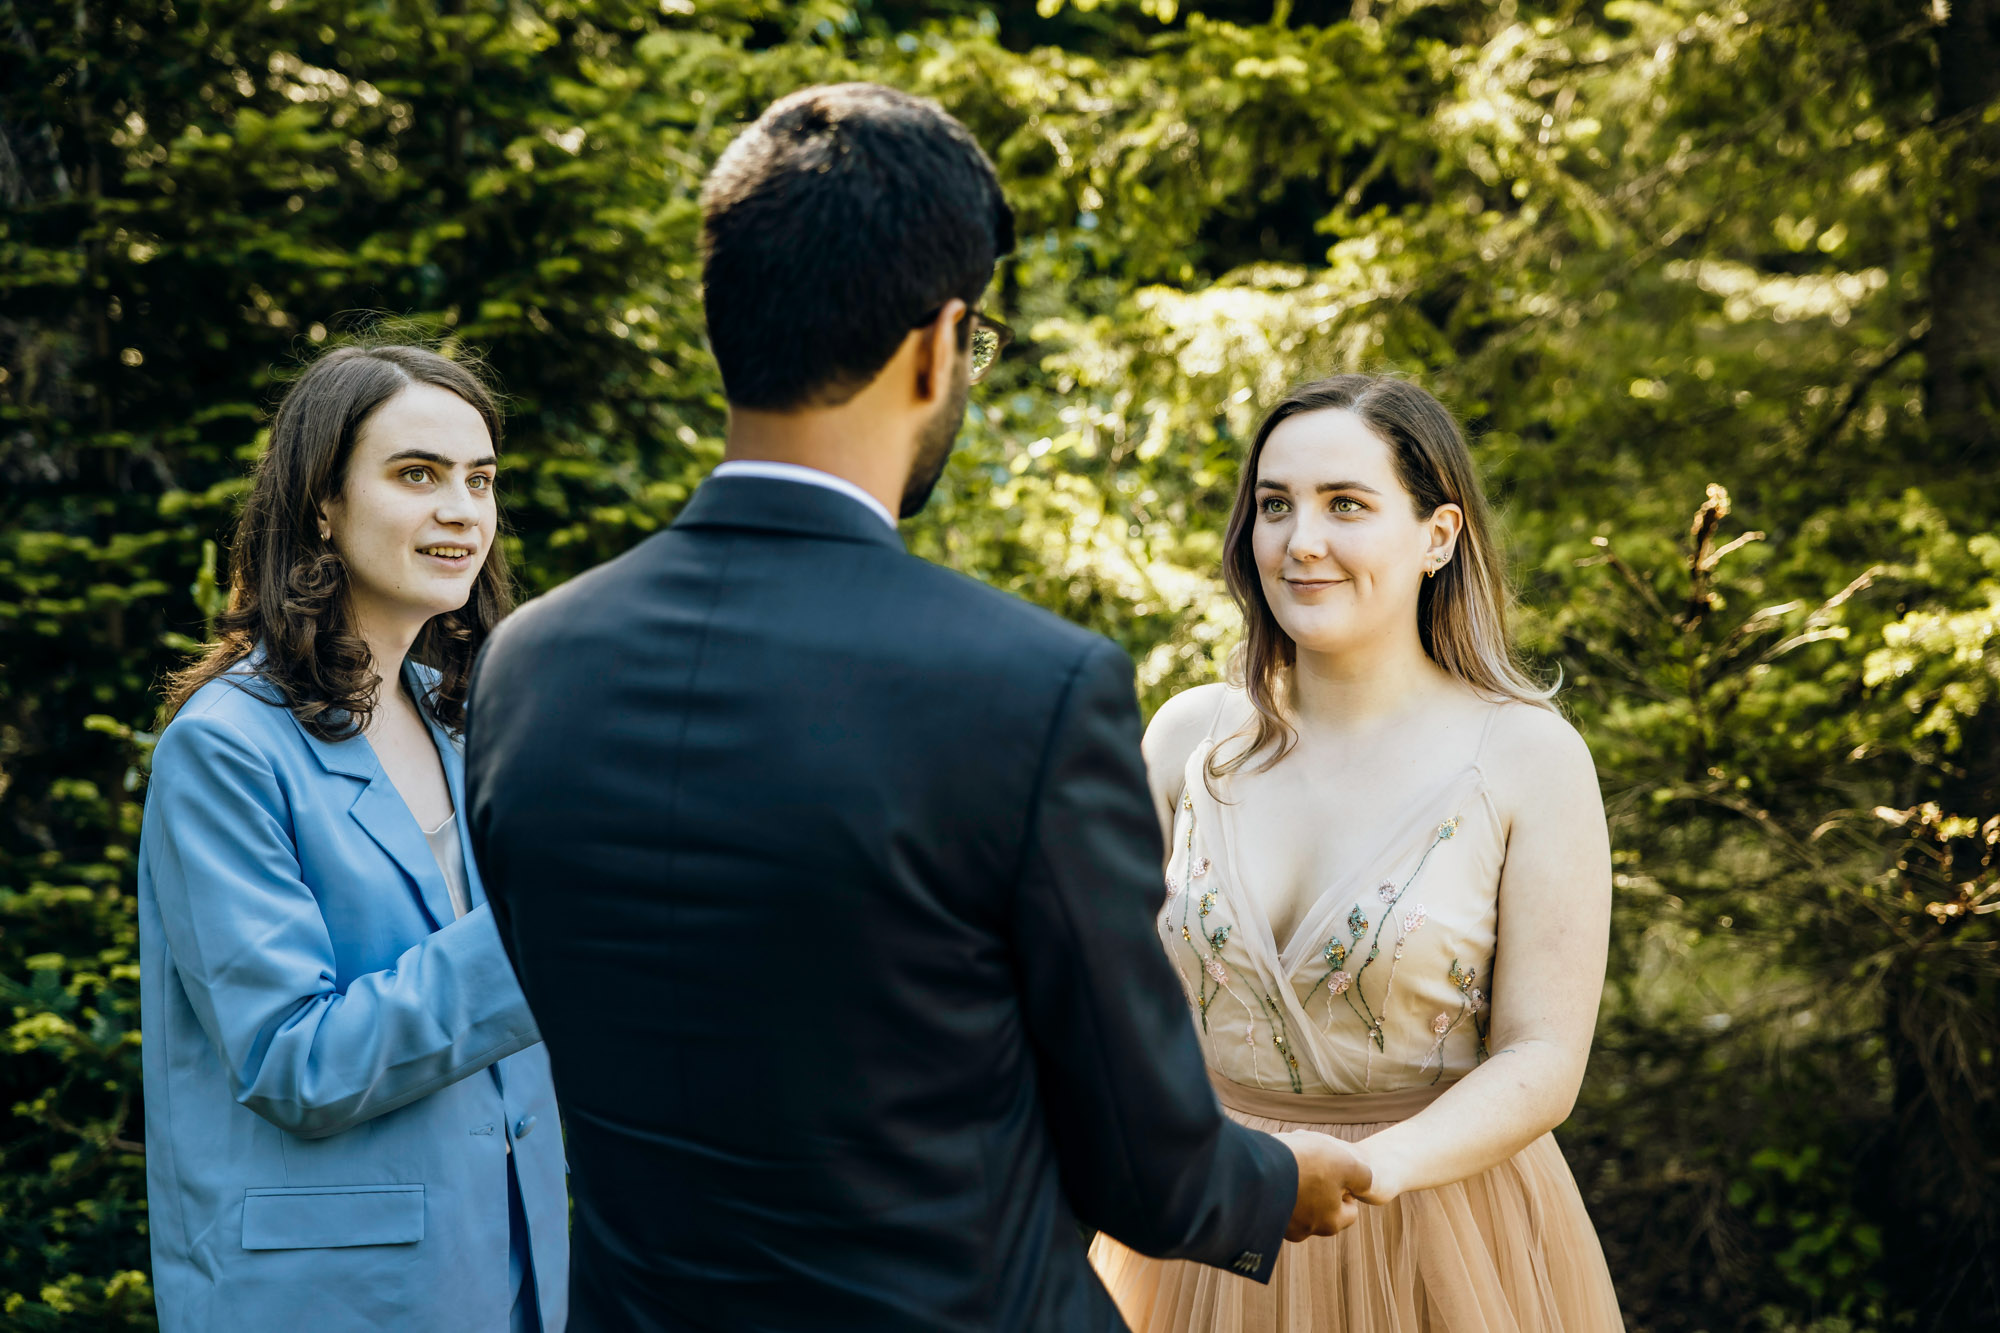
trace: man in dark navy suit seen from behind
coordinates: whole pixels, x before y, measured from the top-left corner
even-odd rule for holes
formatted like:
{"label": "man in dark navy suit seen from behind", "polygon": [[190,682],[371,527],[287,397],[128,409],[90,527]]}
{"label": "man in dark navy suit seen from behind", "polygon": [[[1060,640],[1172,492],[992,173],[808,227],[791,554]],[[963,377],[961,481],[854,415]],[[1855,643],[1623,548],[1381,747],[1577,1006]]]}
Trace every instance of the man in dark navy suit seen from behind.
{"label": "man in dark navy suit seen from behind", "polygon": [[1080,1225],[1264,1281],[1366,1169],[1226,1121],[1154,935],[1132,664],[904,552],[1012,214],[810,88],[704,190],[728,460],[480,658],[470,819],[548,1041],[580,1333],[1118,1329]]}

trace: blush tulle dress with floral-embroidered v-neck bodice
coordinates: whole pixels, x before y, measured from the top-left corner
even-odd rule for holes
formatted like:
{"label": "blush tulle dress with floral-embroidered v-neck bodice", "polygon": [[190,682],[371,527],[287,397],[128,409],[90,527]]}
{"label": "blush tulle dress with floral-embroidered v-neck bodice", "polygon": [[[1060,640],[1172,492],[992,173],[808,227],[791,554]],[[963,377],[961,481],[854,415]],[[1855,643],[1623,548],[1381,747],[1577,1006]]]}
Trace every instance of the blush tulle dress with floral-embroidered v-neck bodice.
{"label": "blush tulle dress with floral-embroidered v-neck bodice", "polygon": [[[1204,783],[1214,735],[1188,757],[1160,943],[1232,1119],[1366,1139],[1486,1059],[1506,847],[1478,761],[1504,707],[1472,763],[1382,829],[1286,941],[1236,873],[1230,807]],[[1106,1235],[1090,1259],[1134,1333],[1624,1329],[1550,1135],[1464,1181],[1362,1205],[1336,1237],[1286,1245],[1268,1285]]]}

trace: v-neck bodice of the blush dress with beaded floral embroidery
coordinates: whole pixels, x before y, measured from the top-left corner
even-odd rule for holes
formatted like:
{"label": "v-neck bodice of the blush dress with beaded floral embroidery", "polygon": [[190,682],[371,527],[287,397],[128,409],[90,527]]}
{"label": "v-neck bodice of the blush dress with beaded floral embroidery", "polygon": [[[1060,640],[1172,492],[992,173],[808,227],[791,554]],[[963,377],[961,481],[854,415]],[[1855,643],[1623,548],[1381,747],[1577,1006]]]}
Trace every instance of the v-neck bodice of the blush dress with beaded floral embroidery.
{"label": "v-neck bodice of the blush dress with beaded floral embroidery", "polygon": [[1216,739],[1194,749],[1160,943],[1216,1075],[1274,1093],[1392,1093],[1450,1083],[1486,1059],[1506,859],[1478,763],[1488,731],[1492,715],[1472,761],[1344,867],[1286,941],[1238,871],[1230,781],[1208,787]]}

